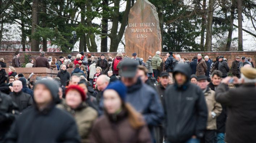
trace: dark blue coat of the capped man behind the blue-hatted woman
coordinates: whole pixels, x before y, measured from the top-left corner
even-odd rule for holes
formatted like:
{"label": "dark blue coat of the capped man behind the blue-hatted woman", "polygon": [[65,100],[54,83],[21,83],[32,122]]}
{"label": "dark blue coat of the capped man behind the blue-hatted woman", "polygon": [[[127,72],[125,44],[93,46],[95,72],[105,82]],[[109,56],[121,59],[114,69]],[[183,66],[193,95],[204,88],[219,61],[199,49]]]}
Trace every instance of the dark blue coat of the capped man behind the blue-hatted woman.
{"label": "dark blue coat of the capped man behind the blue-hatted woman", "polygon": [[152,87],[142,83],[140,78],[135,85],[127,88],[126,102],[144,116],[152,131],[152,127],[160,124],[163,119],[163,107],[158,93]]}

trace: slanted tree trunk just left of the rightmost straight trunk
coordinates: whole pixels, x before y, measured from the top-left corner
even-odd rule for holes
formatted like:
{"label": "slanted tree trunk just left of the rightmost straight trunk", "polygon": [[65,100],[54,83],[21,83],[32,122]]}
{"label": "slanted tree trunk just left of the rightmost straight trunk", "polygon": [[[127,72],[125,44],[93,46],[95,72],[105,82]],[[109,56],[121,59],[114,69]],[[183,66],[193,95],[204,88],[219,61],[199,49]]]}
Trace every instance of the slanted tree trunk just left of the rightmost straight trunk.
{"label": "slanted tree trunk just left of the rightmost straight trunk", "polygon": [[231,10],[230,10],[229,35],[227,36],[227,45],[226,45],[225,51],[230,51],[232,33],[233,33],[234,15],[235,15],[235,0],[232,0]]}

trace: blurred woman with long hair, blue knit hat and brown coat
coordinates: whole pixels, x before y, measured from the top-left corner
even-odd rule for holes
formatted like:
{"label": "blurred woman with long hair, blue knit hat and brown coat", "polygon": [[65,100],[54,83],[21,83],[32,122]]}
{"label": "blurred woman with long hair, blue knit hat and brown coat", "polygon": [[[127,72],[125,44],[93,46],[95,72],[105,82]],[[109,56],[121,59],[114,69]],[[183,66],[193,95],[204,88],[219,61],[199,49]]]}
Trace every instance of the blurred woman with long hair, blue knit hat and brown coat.
{"label": "blurred woman with long hair, blue knit hat and brown coat", "polygon": [[103,92],[105,115],[94,124],[91,143],[151,143],[142,115],[125,103],[126,87],[110,83]]}

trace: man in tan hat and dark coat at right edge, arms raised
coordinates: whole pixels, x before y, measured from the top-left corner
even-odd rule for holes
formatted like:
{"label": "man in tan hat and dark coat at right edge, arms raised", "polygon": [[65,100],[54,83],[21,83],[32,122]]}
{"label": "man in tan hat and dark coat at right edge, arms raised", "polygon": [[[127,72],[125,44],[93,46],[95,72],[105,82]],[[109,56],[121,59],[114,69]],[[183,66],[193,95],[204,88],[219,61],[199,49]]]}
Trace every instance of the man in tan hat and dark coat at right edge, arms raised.
{"label": "man in tan hat and dark coat at right edge, arms raised", "polygon": [[[228,88],[228,84],[240,84]],[[216,101],[227,105],[229,117],[226,122],[226,142],[256,142],[256,69],[241,68],[241,79],[227,77],[216,89]]]}

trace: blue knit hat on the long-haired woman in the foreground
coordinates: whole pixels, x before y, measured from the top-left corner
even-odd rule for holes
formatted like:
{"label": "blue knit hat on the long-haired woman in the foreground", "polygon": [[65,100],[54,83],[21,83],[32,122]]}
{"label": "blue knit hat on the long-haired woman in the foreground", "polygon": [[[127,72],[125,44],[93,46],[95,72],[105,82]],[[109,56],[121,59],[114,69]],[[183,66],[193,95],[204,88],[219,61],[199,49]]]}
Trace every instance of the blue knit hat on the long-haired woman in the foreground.
{"label": "blue knit hat on the long-haired woman in the foreground", "polygon": [[127,88],[126,88],[126,86],[122,82],[120,82],[120,81],[112,82],[112,83],[108,84],[108,86],[105,89],[105,91],[107,89],[113,89],[114,91],[116,91],[119,94],[121,100],[125,101],[125,96],[126,96]]}

